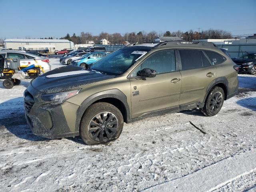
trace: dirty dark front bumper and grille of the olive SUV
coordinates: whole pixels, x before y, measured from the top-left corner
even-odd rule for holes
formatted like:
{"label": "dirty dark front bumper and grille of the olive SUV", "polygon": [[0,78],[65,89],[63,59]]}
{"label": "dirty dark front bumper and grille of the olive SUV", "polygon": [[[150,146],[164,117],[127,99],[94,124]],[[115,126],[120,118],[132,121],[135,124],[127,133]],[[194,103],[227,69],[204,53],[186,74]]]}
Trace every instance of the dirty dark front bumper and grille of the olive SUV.
{"label": "dirty dark front bumper and grille of the olive SUV", "polygon": [[32,86],[24,92],[25,118],[33,134],[52,139],[79,135],[70,131],[60,104],[40,104],[34,92]]}

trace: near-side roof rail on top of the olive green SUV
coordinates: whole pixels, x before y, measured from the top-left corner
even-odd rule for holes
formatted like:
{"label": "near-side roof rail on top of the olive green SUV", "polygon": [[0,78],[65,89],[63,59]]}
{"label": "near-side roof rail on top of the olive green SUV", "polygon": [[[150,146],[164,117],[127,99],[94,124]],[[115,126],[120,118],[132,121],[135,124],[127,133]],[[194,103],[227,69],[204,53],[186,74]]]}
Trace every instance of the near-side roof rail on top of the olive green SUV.
{"label": "near-side roof rail on top of the olive green SUV", "polygon": [[194,45],[194,46],[203,46],[203,47],[217,47],[214,43],[212,42],[204,42],[204,41],[164,41],[160,42],[156,47],[160,46],[174,46],[174,45],[179,45],[179,46],[189,46],[189,45]]}

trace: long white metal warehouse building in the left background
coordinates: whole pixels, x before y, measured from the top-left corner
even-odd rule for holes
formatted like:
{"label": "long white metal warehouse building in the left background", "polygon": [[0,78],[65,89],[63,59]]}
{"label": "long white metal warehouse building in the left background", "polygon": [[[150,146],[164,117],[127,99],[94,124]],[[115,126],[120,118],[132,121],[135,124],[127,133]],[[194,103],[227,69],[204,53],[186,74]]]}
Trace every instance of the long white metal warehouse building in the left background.
{"label": "long white metal warehouse building in the left background", "polygon": [[5,49],[47,51],[73,49],[74,43],[66,39],[5,39]]}

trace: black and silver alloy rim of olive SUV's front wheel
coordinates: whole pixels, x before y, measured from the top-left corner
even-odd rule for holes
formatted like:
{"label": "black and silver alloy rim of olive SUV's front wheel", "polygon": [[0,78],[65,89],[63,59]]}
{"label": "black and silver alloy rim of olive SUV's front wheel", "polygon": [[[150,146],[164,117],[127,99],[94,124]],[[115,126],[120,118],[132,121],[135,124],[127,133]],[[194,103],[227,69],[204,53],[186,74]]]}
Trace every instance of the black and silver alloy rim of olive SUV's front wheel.
{"label": "black and silver alloy rim of olive SUV's front wheel", "polygon": [[88,133],[95,141],[107,142],[116,134],[117,128],[116,116],[110,112],[101,112],[90,120]]}

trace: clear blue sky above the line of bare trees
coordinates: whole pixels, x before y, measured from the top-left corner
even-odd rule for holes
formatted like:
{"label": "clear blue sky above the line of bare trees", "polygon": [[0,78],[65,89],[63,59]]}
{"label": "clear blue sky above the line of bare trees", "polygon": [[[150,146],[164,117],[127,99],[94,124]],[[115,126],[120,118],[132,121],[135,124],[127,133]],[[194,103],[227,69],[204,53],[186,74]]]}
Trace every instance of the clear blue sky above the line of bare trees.
{"label": "clear blue sky above the line of bare trees", "polygon": [[0,38],[222,29],[256,33],[256,0],[0,0]]}

